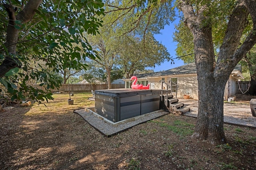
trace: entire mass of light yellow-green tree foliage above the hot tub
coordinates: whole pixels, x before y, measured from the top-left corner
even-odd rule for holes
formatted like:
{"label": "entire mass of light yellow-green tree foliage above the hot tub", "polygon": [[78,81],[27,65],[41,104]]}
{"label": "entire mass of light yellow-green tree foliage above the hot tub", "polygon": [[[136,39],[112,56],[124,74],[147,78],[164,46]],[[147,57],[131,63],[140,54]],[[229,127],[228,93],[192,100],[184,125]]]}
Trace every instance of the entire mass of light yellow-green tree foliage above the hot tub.
{"label": "entire mass of light yellow-green tree foliage above the hot tub", "polygon": [[[132,1],[106,2],[100,34],[88,36],[88,41],[100,55],[100,59],[94,60],[106,70],[109,88],[114,66],[118,65],[125,77],[130,78],[136,70],[170,59],[167,49],[154,39],[152,32],[159,33],[164,23],[173,19],[173,12],[165,8],[168,13],[163,15],[159,12],[163,4],[155,5],[149,3],[142,7]],[[159,12],[157,16],[156,12]]]}

